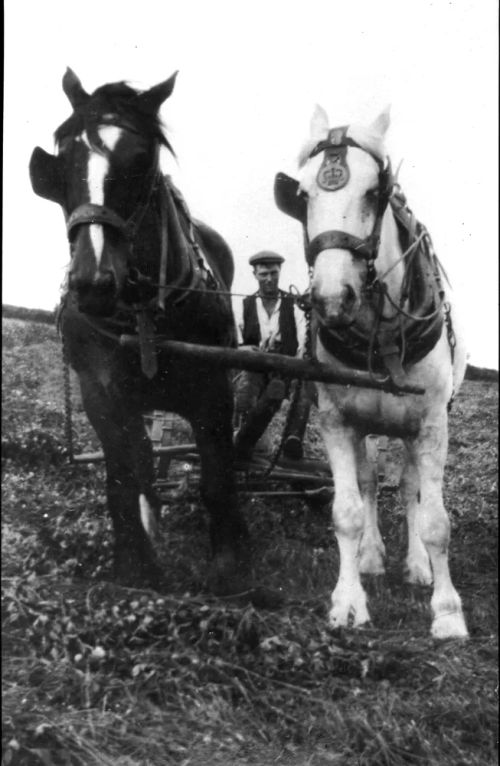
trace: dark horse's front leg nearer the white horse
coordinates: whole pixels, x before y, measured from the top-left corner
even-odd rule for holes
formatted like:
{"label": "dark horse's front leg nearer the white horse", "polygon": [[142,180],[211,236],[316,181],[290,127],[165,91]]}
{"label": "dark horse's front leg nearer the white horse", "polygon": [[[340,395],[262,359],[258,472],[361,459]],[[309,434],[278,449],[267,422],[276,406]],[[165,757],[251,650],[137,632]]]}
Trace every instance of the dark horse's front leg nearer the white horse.
{"label": "dark horse's front leg nearer the white horse", "polygon": [[249,575],[249,533],[238,510],[233,470],[232,394],[224,380],[212,380],[216,396],[197,397],[190,409],[201,460],[200,491],[209,515],[212,562],[209,587],[218,594],[247,590]]}

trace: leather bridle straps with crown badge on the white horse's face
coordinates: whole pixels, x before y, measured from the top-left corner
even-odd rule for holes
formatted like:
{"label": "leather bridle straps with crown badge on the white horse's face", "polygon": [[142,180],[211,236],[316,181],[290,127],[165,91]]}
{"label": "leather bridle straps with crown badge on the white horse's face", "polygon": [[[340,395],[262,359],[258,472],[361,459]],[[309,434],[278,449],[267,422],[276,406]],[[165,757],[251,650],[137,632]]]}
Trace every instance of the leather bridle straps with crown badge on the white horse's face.
{"label": "leather bridle straps with crown badge on the white horse's face", "polygon": [[[356,237],[353,234],[349,234],[345,231],[339,231],[332,229],[324,231],[318,234],[312,241],[309,242],[307,237],[307,231],[305,232],[305,254],[306,261],[310,268],[314,266],[316,258],[323,252],[323,250],[329,249],[342,249],[350,250],[352,254],[359,258],[364,258],[368,265],[368,281],[373,282],[375,279],[375,267],[374,262],[378,255],[380,246],[380,232],[382,228],[382,220],[384,213],[387,209],[389,199],[392,194],[394,178],[392,174],[390,161],[384,162],[373,152],[370,152],[366,147],[361,146],[350,136],[347,136],[348,126],[340,128],[333,128],[328,133],[328,138],[324,141],[320,141],[309,153],[309,159],[312,159],[321,152],[325,153],[325,158],[336,163],[340,166],[340,171],[343,172],[344,178],[341,178],[340,182],[332,182],[330,185],[321,183],[323,189],[327,191],[336,191],[337,189],[345,186],[349,178],[349,169],[345,164],[345,154],[348,147],[352,146],[356,149],[361,149],[367,152],[377,163],[379,168],[378,173],[378,195],[377,195],[377,210],[375,214],[375,222],[372,232],[365,239]],[[323,167],[323,166],[322,166]],[[318,173],[318,178],[321,174],[321,168]]]}

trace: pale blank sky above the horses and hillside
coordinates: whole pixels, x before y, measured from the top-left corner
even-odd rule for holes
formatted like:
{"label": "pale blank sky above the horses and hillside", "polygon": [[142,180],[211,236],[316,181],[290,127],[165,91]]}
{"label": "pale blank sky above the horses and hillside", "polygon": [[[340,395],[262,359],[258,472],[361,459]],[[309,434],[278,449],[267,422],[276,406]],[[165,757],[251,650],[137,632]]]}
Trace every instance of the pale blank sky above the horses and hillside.
{"label": "pale blank sky above the horses and hillside", "polygon": [[161,116],[165,172],[256,283],[248,258],[286,258],[307,286],[299,224],[273,199],[297,174],[316,103],[332,127],[391,105],[387,146],[409,204],[454,287],[472,364],[498,369],[496,0],[6,0],[3,303],[52,309],[68,264],[63,216],[35,196],[33,148],[53,151],[71,113],[67,66],[92,92],[148,88],[179,70]]}

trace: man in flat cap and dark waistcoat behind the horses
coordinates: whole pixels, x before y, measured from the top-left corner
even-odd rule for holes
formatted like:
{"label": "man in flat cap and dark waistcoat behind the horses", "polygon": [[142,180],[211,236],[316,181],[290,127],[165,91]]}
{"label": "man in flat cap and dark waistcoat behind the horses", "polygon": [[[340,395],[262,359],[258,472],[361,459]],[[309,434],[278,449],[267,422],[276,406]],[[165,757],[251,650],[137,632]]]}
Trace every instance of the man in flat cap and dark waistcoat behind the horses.
{"label": "man in flat cap and dark waistcoat behind the horses", "polygon": [[[283,256],[270,250],[249,259],[259,289],[243,300],[243,315],[238,322],[240,347],[287,356],[302,356],[305,343],[305,316],[293,298],[280,290],[279,280]],[[270,451],[265,430],[283,399],[288,386],[278,376],[243,371],[236,381],[236,417],[239,431],[235,443],[237,454],[248,457],[258,447]],[[303,385],[283,452],[286,457],[302,457],[302,439],[309,416],[309,398]]]}

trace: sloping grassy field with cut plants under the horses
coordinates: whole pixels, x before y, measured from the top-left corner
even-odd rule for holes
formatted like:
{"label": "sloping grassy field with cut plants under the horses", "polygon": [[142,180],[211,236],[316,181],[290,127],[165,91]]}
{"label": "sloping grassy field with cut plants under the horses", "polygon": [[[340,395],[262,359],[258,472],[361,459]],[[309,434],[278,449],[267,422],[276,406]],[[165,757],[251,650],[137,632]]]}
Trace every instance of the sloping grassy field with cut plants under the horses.
{"label": "sloping grassy field with cut plants under the horses", "polygon": [[[256,574],[283,589],[279,609],[207,595],[196,487],[163,509],[165,591],[119,588],[103,469],[66,459],[55,330],[4,320],[3,342],[2,764],[497,762],[497,380],[467,380],[451,414],[451,569],[471,637],[436,642],[429,593],[401,584],[397,445],[380,496],[388,561],[370,588],[371,627],[327,627],[330,513],[296,498],[243,500]],[[72,390],[78,449],[94,449]],[[181,422],[173,438],[186,439]],[[306,451],[321,450],[313,415]]]}

